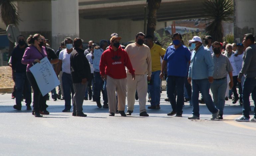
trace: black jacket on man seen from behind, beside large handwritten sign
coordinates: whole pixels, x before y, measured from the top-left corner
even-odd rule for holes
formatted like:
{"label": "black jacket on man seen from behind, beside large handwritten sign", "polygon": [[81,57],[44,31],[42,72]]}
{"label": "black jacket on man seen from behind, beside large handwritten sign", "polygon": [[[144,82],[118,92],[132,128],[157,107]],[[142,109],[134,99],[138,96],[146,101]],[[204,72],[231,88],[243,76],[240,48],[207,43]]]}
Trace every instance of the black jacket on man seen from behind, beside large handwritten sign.
{"label": "black jacket on man seen from behind, beside large handwritten sign", "polygon": [[82,79],[91,79],[91,69],[83,49],[75,48],[70,56],[70,71],[73,83],[81,83]]}

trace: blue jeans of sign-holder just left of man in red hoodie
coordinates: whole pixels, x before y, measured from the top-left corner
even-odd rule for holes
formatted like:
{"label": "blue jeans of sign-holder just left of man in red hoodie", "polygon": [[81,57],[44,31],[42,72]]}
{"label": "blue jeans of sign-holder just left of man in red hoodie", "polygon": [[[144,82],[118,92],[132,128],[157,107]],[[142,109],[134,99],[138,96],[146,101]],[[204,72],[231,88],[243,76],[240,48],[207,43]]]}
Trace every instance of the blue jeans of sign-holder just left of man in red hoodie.
{"label": "blue jeans of sign-holder just left of man in red hoodie", "polygon": [[107,104],[108,103],[108,98],[107,98],[107,89],[106,89],[106,81],[103,81],[101,79],[100,73],[99,72],[95,72],[94,71],[94,100],[96,102],[100,101],[100,91],[103,89],[103,104]]}

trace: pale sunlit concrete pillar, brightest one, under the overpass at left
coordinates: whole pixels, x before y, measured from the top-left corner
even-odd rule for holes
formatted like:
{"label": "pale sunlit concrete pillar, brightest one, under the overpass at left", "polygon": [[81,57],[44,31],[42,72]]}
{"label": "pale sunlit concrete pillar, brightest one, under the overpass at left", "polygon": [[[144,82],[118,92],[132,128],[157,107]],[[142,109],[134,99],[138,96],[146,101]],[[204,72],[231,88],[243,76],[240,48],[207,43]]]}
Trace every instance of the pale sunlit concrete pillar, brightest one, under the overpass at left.
{"label": "pale sunlit concrete pillar, brightest one, under the overpass at left", "polygon": [[78,0],[52,0],[52,48],[66,37],[79,37]]}

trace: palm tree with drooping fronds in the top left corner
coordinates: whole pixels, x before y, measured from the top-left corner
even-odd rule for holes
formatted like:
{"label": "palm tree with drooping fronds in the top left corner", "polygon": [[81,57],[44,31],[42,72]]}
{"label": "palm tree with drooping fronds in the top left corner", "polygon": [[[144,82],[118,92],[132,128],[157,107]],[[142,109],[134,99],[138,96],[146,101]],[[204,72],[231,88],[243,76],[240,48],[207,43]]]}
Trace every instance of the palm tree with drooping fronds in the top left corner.
{"label": "palm tree with drooping fronds in the top left corner", "polygon": [[[1,19],[6,25],[6,27],[9,24],[19,25],[19,21],[21,21],[18,11],[16,9],[16,6],[12,3],[11,0],[0,0],[0,6],[1,6]],[[14,43],[9,41],[9,58],[11,57],[12,50],[14,47]]]}

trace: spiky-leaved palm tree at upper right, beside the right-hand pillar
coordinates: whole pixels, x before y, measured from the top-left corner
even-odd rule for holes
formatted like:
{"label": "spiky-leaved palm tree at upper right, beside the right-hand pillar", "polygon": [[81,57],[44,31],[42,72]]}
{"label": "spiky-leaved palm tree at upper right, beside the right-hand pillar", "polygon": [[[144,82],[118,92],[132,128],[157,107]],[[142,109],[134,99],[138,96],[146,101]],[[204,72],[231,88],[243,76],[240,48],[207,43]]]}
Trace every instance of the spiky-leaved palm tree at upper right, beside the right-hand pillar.
{"label": "spiky-leaved palm tree at upper right, beside the right-hand pillar", "polygon": [[234,4],[233,0],[208,0],[204,3],[204,11],[208,15],[205,20],[205,31],[212,36],[214,41],[223,42],[222,22],[234,21]]}

